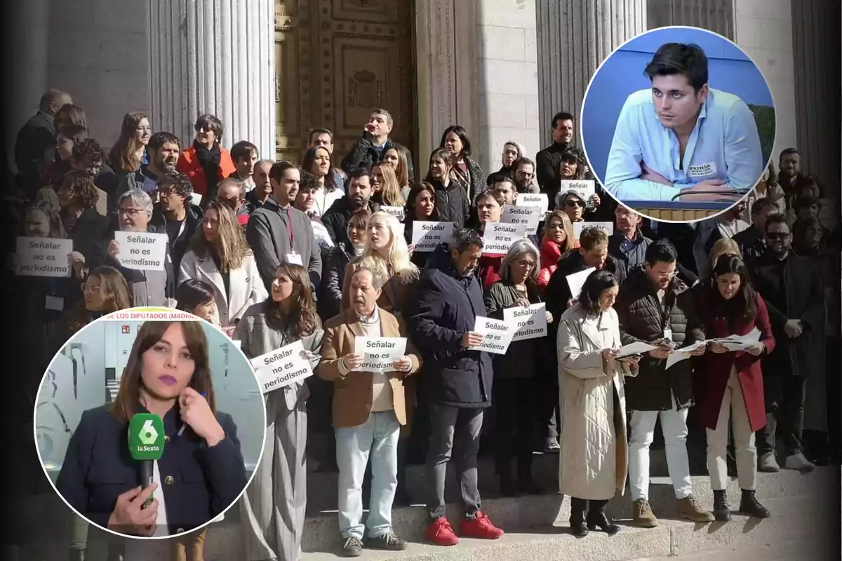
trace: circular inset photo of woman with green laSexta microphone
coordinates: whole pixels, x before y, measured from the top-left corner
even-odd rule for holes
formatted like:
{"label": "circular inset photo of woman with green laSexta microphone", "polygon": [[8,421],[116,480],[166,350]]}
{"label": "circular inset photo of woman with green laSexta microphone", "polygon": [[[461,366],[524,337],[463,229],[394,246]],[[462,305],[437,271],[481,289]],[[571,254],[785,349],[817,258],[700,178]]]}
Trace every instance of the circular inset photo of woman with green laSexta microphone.
{"label": "circular inset photo of woman with green laSexta microphone", "polygon": [[61,499],[127,537],[221,520],[246,490],[266,430],[238,342],[168,309],[120,310],[74,333],[35,403],[36,447]]}

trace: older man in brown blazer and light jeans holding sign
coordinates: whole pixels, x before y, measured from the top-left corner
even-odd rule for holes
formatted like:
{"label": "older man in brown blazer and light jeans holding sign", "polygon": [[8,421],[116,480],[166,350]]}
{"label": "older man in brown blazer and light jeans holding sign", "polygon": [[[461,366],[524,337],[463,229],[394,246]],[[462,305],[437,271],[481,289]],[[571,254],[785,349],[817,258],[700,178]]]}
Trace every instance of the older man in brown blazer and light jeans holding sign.
{"label": "older man in brown blazer and light jeans holding sign", "polygon": [[[417,373],[421,356],[397,318],[377,307],[381,273],[357,267],[351,307],[325,324],[320,378],[333,382],[333,426],[339,467],[339,531],[346,557],[362,549],[400,551],[407,542],[392,530],[397,490],[397,440],[407,424],[403,378]],[[371,460],[370,511],[362,523],[362,485]],[[367,529],[367,532],[365,532]],[[364,533],[365,546],[363,543]]]}

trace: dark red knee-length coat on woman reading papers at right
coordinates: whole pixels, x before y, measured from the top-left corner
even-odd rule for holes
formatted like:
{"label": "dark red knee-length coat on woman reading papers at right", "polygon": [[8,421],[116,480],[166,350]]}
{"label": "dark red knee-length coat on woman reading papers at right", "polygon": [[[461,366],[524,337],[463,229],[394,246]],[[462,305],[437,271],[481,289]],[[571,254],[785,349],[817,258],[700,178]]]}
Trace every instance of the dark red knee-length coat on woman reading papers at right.
{"label": "dark red knee-length coat on woman reading papers at right", "polygon": [[731,367],[737,369],[740,387],[743,389],[743,399],[749,412],[749,423],[752,431],[758,431],[766,424],[766,407],[763,399],[763,373],[760,371],[761,357],[772,352],[775,348],[775,337],[769,323],[769,312],[760,295],[757,295],[757,315],[754,320],[739,319],[734,329],[729,329],[727,320],[715,317],[711,305],[705,305],[706,297],[701,298],[697,310],[704,324],[708,339],[727,337],[729,335],[746,335],[756,326],[760,331],[760,342],[766,346],[766,351],[758,357],[748,352],[723,352],[717,354],[707,351],[702,355],[698,368],[695,368],[695,415],[702,426],[714,430],[719,421],[719,410],[722,397],[725,395]]}

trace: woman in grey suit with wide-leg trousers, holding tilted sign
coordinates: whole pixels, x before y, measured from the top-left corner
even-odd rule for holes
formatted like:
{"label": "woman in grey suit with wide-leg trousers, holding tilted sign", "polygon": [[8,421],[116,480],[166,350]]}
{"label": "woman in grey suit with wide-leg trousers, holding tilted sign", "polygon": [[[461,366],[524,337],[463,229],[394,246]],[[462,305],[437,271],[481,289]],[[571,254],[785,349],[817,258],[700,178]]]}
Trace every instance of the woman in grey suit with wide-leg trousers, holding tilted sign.
{"label": "woman in grey suit with wide-leg trousers, holding tilted sign", "polygon": [[[251,359],[301,341],[316,368],[322,349],[322,321],[316,313],[307,270],[287,263],[278,267],[269,299],[242,316],[233,338]],[[259,378],[259,375],[258,375]],[[264,392],[266,437],[252,483],[240,511],[248,561],[297,561],[306,508],[306,380]]]}

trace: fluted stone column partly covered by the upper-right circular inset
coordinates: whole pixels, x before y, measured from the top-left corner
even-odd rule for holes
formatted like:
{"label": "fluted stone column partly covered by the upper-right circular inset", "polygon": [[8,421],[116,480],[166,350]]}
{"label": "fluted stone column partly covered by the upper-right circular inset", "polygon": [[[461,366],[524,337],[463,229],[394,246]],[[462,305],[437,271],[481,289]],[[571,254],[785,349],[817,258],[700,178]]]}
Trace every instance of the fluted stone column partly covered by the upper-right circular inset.
{"label": "fluted stone column partly covered by the upper-right circular inset", "polygon": [[[590,77],[619,45],[647,29],[646,0],[536,0],[541,139],[559,111],[577,118]],[[578,145],[581,138],[576,123]]]}

